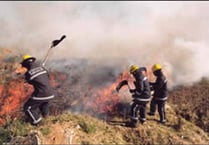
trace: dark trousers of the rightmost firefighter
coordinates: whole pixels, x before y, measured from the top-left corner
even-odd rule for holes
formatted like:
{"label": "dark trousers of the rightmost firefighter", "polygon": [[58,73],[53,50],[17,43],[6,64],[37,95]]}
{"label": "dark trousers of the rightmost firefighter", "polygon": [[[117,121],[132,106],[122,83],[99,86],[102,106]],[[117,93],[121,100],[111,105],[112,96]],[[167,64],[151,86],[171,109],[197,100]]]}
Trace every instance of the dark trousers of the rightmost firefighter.
{"label": "dark trousers of the rightmost firefighter", "polygon": [[164,122],[166,120],[165,102],[166,101],[164,101],[164,100],[155,100],[153,98],[151,103],[150,103],[150,113],[154,115],[155,111],[156,111],[156,106],[157,106],[161,122]]}

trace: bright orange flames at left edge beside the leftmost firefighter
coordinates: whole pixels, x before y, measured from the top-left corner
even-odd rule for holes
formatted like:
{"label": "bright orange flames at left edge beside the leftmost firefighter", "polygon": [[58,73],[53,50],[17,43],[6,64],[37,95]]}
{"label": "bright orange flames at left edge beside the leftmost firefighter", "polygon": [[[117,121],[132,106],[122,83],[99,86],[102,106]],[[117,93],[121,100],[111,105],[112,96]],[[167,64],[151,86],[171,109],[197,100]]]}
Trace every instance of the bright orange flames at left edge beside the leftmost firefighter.
{"label": "bright orange flames at left edge beside the leftmost firefighter", "polygon": [[13,118],[20,115],[22,103],[32,90],[32,86],[24,84],[20,79],[0,86],[0,124],[3,124],[7,117]]}

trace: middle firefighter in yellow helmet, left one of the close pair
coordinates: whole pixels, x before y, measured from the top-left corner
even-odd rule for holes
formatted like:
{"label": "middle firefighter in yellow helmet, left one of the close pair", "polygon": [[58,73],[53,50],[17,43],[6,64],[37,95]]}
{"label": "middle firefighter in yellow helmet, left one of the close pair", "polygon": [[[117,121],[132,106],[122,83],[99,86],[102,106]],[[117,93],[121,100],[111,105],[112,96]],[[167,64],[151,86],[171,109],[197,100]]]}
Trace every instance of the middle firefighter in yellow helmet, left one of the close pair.
{"label": "middle firefighter in yellow helmet, left one of the close pair", "polygon": [[143,71],[146,71],[145,67],[140,68],[136,65],[130,67],[130,73],[135,78],[135,89],[130,89],[133,103],[131,105],[130,122],[127,123],[127,126],[133,128],[137,127],[138,120],[142,124],[146,121],[146,104],[150,101],[151,97],[149,81],[143,74]]}

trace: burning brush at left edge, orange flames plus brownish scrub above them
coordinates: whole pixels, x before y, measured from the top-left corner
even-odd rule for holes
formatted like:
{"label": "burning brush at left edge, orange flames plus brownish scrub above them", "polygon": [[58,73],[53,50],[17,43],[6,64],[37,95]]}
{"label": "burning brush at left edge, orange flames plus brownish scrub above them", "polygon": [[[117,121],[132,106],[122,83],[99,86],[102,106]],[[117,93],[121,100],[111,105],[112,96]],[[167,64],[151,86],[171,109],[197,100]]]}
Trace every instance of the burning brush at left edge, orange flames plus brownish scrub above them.
{"label": "burning brush at left edge, orange flames plus brownish scrub above them", "polygon": [[0,69],[0,124],[7,118],[19,117],[22,113],[22,103],[28,98],[33,88],[24,83],[24,80],[14,75],[16,63],[2,62]]}

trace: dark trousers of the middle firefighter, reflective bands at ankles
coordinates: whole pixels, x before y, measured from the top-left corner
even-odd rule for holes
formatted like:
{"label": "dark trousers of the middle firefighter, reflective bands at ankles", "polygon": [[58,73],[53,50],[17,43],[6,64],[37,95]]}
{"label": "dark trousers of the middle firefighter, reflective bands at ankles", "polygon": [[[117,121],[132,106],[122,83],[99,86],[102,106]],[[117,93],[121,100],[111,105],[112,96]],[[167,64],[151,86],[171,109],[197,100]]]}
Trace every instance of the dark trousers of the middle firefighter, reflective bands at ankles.
{"label": "dark trousers of the middle firefighter, reflective bands at ankles", "polygon": [[[134,101],[131,105],[131,122],[137,123],[138,119],[141,123],[146,121],[146,102]],[[139,113],[139,117],[138,117]]]}

